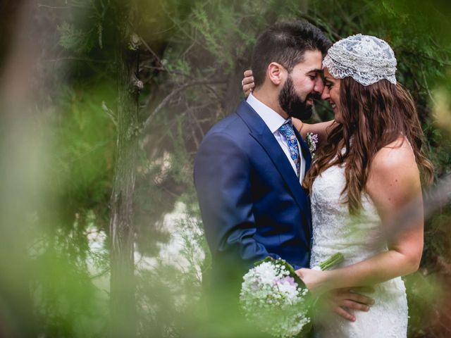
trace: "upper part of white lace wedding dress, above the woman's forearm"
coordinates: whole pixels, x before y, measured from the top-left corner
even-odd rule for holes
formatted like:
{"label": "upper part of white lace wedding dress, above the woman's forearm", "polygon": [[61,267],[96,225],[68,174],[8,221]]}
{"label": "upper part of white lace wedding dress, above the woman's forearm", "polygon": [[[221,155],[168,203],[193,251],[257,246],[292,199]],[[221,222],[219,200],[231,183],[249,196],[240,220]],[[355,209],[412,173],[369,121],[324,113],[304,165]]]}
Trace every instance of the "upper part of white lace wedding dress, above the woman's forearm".
{"label": "upper part of white lace wedding dress, above the woman's forearm", "polygon": [[[313,246],[311,266],[318,265],[333,253],[345,256],[343,265],[350,265],[374,256],[386,246],[374,246],[371,240],[380,234],[381,218],[366,194],[362,195],[362,212],[350,216],[345,187],[344,168],[328,168],[314,181],[311,193]],[[376,241],[374,241],[376,242]]]}

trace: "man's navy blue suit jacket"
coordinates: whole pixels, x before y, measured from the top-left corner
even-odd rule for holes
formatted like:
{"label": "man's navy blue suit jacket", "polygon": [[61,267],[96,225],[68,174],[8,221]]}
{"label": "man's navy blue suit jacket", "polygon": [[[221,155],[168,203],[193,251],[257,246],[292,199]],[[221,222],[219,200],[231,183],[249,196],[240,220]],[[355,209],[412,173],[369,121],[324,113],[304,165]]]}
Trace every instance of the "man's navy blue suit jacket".
{"label": "man's navy blue suit jacket", "polygon": [[[308,170],[308,146],[295,132]],[[283,258],[296,269],[309,266],[309,196],[276,138],[246,101],[202,140],[194,183],[214,279],[242,277],[266,256]]]}

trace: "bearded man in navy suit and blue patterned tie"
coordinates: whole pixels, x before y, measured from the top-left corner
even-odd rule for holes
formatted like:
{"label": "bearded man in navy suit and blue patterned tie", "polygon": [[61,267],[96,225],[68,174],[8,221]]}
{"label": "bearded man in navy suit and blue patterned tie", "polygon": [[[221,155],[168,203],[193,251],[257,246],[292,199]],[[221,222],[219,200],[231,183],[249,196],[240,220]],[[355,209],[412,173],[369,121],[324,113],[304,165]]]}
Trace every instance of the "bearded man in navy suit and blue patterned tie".
{"label": "bearded man in navy suit and blue patterned tie", "polygon": [[310,201],[301,182],[311,154],[291,118],[309,118],[329,46],[304,22],[261,33],[252,54],[254,92],[199,146],[194,183],[215,289],[231,286],[236,297],[242,276],[266,256],[309,266]]}

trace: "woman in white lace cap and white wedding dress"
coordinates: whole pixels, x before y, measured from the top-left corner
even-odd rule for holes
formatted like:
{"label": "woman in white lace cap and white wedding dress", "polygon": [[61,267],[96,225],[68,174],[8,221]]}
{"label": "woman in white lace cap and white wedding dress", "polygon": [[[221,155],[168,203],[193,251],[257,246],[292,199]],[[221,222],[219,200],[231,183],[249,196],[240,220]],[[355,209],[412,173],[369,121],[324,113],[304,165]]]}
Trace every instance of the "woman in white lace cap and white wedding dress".
{"label": "woman in white lace cap and white wedding dress", "polygon": [[[310,266],[337,251],[345,256],[335,270],[302,268],[297,274],[312,292],[324,296],[338,288],[372,285],[375,290],[368,312],[317,311],[318,337],[407,336],[407,298],[400,276],[419,267],[422,210],[408,226],[392,224],[400,209],[421,201],[420,173],[431,182],[433,169],[421,152],[416,108],[396,81],[396,65],[393,50],[381,39],[341,39],[323,60],[321,98],[333,108],[335,120],[295,122],[302,137],[312,132],[323,141],[303,182],[312,208]],[[252,77],[243,83],[248,92]],[[336,314],[340,311],[342,317]]]}

